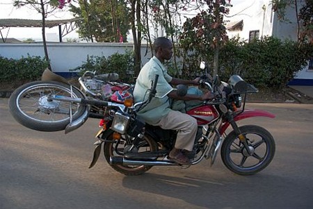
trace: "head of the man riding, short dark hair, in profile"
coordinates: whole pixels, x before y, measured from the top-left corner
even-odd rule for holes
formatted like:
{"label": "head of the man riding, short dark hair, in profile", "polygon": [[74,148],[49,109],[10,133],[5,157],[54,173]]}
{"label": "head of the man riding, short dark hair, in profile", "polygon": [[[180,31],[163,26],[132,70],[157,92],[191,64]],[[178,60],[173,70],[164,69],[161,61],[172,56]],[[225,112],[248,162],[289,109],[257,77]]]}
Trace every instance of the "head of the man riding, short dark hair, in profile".
{"label": "head of the man riding, short dark hair, in profile", "polygon": [[161,62],[172,58],[172,42],[166,37],[158,37],[154,40],[153,50]]}

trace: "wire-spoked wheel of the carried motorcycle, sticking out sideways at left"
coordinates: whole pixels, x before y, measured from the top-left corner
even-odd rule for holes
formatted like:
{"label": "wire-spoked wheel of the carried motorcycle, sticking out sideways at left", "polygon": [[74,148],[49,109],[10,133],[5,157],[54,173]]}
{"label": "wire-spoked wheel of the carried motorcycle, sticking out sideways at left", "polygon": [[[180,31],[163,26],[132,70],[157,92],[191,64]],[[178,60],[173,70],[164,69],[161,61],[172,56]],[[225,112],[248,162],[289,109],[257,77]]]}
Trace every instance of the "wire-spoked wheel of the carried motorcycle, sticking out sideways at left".
{"label": "wire-spoked wheel of the carried motorcycle, sticking out sideways at left", "polygon": [[[72,97],[85,98],[72,87]],[[49,101],[48,95],[71,97],[70,85],[56,81],[34,81],[18,87],[9,99],[10,113],[15,120],[35,131],[62,131],[72,120],[80,117],[86,106],[65,101]]]}

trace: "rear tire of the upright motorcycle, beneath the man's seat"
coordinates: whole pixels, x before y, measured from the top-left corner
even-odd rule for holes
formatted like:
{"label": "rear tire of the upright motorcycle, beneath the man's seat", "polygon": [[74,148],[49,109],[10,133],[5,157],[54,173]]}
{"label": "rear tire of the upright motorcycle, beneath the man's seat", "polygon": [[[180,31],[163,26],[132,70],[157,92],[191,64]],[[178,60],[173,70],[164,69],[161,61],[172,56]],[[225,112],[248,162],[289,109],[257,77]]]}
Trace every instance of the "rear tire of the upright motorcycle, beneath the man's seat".
{"label": "rear tire of the upright motorcycle, beneath the man's seat", "polygon": [[[106,139],[108,141],[113,140],[112,134],[109,135]],[[120,148],[116,147],[119,144],[122,147]],[[152,137],[150,137],[149,135],[145,135],[140,144],[142,148],[147,148],[148,146],[151,152],[157,151],[158,149],[157,143],[154,142]],[[106,158],[106,162],[108,162],[110,165],[110,156],[123,156],[124,148],[125,148],[124,145],[122,143],[118,143],[117,141],[104,143],[104,157]],[[141,147],[138,148],[139,148],[138,152],[140,152]],[[139,166],[111,165],[111,167],[115,169],[115,171],[120,172],[121,174],[124,174],[126,176],[138,176],[144,174],[145,172],[152,168],[152,166],[147,165]]]}

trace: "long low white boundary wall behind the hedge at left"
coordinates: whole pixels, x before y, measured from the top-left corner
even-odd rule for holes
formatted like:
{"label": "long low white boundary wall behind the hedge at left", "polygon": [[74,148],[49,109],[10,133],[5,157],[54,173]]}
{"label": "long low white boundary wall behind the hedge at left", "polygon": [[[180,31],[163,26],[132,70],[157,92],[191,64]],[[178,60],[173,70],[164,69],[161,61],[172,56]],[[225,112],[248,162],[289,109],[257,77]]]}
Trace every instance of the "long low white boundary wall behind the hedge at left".
{"label": "long low white boundary wall behind the hedge at left", "polygon": [[[86,62],[87,56],[105,56],[113,53],[132,51],[133,44],[129,43],[48,43],[47,49],[53,72],[69,72],[69,69],[79,67]],[[141,48],[142,64],[151,58],[147,48]],[[42,43],[4,43],[0,44],[0,56],[19,59],[22,56],[45,57]]]}

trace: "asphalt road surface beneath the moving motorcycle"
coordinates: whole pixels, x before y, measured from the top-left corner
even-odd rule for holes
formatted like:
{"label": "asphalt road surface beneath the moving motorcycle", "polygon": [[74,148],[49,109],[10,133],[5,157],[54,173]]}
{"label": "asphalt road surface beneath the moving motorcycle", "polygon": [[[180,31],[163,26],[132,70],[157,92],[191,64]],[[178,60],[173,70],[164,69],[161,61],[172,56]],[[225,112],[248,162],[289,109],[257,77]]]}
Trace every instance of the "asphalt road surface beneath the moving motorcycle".
{"label": "asphalt road surface beneath the moving motorcycle", "polygon": [[123,176],[104,156],[88,169],[97,120],[79,130],[42,133],[17,124],[0,99],[0,208],[312,208],[313,105],[248,103],[275,119],[241,124],[267,128],[276,153],[254,176],[227,170],[220,157],[188,169],[153,167],[142,176]]}

